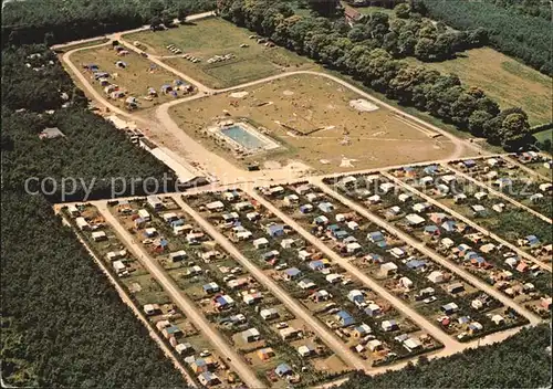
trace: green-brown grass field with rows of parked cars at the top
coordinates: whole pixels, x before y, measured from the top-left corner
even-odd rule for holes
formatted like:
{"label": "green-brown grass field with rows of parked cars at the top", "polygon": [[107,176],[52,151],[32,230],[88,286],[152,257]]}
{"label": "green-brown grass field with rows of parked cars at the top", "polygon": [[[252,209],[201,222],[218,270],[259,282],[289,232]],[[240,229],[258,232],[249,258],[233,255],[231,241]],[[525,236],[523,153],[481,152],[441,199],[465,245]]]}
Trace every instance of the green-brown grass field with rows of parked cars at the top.
{"label": "green-brown grass field with rows of parked cars at the top", "polygon": [[[251,32],[246,29],[221,19],[209,18],[177,29],[143,31],[124,38],[131,43],[138,41],[146,44],[148,53],[161,56],[170,66],[215,88],[238,85],[286,70],[314,66],[309,60],[288,50],[258,44],[255,40],[249,39],[250,35]],[[181,55],[173,55],[166,49],[169,44],[174,44],[182,53],[201,59],[201,62],[192,63]],[[249,46],[240,48],[241,44]],[[236,59],[208,63],[210,57],[225,54],[233,54]]]}

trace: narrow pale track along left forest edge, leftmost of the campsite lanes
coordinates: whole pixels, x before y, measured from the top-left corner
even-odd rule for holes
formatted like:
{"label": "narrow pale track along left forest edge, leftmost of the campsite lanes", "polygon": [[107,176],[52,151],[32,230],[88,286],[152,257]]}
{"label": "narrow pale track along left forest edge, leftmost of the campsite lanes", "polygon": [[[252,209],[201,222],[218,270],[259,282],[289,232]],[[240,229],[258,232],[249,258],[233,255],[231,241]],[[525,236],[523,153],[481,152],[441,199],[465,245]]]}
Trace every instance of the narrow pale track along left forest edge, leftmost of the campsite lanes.
{"label": "narrow pale track along left forest edge, leftmost of the campsite lanes", "polygon": [[[60,209],[55,209],[55,208],[54,208],[54,210],[56,213],[59,213],[59,211],[60,211]],[[73,229],[73,227],[65,219],[64,215],[62,217],[62,221],[65,225]],[[157,345],[159,346],[161,351],[164,351],[165,356],[173,361],[173,365],[175,366],[175,368],[180,371],[180,374],[182,375],[182,377],[186,380],[186,383],[194,387],[194,388],[197,388],[195,380],[192,379],[192,377],[190,377],[190,375],[188,374],[188,370],[186,370],[186,368],[182,366],[182,362],[175,357],[175,355],[171,353],[169,347],[165,344],[165,341],[161,339],[161,337],[158,335],[158,333],[154,329],[152,323],[144,316],[144,314],[142,313],[139,307],[137,307],[136,304],[133,302],[133,299],[131,299],[131,296],[128,295],[128,293],[123,287],[121,287],[117,280],[107,270],[104,262],[96,255],[96,253],[94,251],[92,251],[92,249],[88,246],[88,244],[76,232],[75,232],[75,236],[81,242],[81,244],[84,245],[84,248],[86,249],[88,254],[92,256],[94,262],[96,262],[96,264],[100,266],[102,272],[104,272],[104,274],[107,276],[109,282],[114,285],[115,291],[119,295],[119,298],[123,301],[123,303],[125,303],[133,311],[135,316],[148,329],[148,335],[154,339],[155,343],[157,343]]]}

